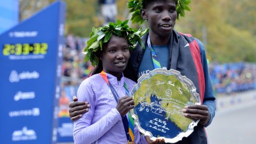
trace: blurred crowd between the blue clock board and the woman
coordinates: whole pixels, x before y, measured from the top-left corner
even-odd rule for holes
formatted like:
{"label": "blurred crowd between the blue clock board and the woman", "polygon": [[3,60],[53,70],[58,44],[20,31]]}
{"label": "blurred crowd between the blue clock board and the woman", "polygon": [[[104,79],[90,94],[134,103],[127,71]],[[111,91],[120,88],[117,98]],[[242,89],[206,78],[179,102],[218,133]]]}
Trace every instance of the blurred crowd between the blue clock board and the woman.
{"label": "blurred crowd between the blue clock board and the woman", "polygon": [[69,117],[69,102],[76,95],[79,84],[93,69],[90,62],[84,61],[83,49],[86,38],[67,35],[63,47],[61,95],[59,100],[59,117]]}

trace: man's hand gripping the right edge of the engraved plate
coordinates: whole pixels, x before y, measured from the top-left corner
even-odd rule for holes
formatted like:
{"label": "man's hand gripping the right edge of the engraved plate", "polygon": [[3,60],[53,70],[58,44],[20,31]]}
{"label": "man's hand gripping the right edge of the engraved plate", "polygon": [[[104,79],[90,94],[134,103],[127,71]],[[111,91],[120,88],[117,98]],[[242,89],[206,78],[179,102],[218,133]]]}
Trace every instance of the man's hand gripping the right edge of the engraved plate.
{"label": "man's hand gripping the right edge of the engraved plate", "polygon": [[210,121],[208,107],[205,105],[186,106],[182,112],[187,118],[200,119],[199,124],[205,125]]}

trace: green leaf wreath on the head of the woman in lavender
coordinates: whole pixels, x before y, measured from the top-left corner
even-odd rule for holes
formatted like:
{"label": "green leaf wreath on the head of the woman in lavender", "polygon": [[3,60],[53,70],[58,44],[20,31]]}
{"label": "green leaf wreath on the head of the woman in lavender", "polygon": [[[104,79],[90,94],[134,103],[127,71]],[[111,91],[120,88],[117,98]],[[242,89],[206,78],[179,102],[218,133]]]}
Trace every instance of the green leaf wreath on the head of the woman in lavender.
{"label": "green leaf wreath on the head of the woman in lavender", "polygon": [[87,41],[87,46],[84,49],[85,61],[90,60],[92,66],[98,66],[99,58],[97,57],[97,52],[102,51],[102,44],[107,43],[113,34],[126,37],[129,50],[133,50],[137,42],[139,42],[142,47],[145,47],[145,45],[142,44],[141,36],[147,34],[148,29],[143,31],[133,29],[127,25],[127,22],[128,20],[124,22],[117,20],[116,23],[110,22],[103,27],[93,27],[90,38]]}

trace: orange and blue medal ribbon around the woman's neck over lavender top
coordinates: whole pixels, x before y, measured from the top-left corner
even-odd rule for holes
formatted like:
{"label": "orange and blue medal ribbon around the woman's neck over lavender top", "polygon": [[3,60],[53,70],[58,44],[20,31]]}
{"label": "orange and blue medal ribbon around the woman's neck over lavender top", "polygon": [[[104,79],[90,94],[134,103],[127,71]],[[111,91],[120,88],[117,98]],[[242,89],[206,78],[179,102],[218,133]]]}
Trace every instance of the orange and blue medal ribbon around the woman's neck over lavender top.
{"label": "orange and blue medal ribbon around the woman's neck over lavender top", "polygon": [[[108,77],[107,77],[107,74],[105,73],[105,71],[101,71],[100,73],[100,76],[105,80],[105,82],[108,84],[108,86],[110,87],[110,90],[112,92],[112,94],[114,95],[115,97],[115,100],[116,102],[118,102],[118,99],[119,99],[119,95],[117,94],[114,86],[109,83],[108,81]],[[125,93],[130,96],[130,92],[128,90],[128,87],[126,85],[126,83],[124,82],[124,90],[125,90]],[[132,118],[132,115],[130,113],[130,111],[128,112],[128,119],[126,117],[126,115],[122,118],[122,121],[123,121],[123,125],[124,125],[124,130],[125,130],[125,133],[126,133],[126,138],[128,141],[132,141],[134,142],[134,121],[133,121],[133,118]],[[127,127],[129,127],[127,129]]]}

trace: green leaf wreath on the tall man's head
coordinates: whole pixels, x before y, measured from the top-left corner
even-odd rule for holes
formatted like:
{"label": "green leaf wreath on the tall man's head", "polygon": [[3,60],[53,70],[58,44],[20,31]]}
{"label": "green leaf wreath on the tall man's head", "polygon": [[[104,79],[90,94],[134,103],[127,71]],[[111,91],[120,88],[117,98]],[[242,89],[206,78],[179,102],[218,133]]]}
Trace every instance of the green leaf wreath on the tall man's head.
{"label": "green leaf wreath on the tall man's head", "polygon": [[[177,11],[177,19],[179,20],[179,15],[181,17],[185,17],[185,10],[190,11],[189,4],[190,0],[175,0],[176,3],[176,11]],[[127,3],[128,8],[130,9],[130,13],[133,12],[131,21],[132,23],[136,22],[141,25],[144,20],[141,17],[140,9],[142,9],[142,0],[129,0]]]}

